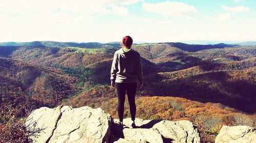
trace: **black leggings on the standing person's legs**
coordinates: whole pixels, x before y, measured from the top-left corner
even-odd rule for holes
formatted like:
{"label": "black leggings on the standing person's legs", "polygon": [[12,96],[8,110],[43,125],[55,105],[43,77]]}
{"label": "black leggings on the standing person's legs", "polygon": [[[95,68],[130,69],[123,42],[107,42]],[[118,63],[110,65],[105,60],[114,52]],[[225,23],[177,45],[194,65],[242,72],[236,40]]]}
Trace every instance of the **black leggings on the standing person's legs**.
{"label": "black leggings on the standing person's legs", "polygon": [[135,120],[136,115],[136,104],[135,104],[135,95],[136,95],[137,83],[116,83],[116,90],[118,95],[118,117],[119,121],[123,122],[123,112],[124,112],[124,101],[125,101],[125,92],[127,92],[127,97],[130,105],[130,112],[132,120]]}

